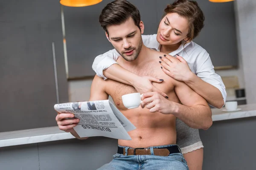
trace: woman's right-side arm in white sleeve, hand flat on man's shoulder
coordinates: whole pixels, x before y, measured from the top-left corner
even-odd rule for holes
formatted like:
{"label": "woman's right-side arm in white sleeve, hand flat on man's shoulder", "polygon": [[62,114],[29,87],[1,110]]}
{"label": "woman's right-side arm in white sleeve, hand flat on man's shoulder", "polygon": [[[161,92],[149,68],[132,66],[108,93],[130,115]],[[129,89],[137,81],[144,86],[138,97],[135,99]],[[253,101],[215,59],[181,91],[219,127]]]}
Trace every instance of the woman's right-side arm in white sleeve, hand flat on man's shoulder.
{"label": "woman's right-side arm in white sleeve, hand flat on man's shoulder", "polygon": [[[208,55],[208,56],[207,56]],[[179,81],[185,82],[197,94],[215,108],[222,108],[226,100],[226,91],[221,77],[215,73],[209,54],[205,51],[196,59],[196,74],[192,73],[186,60],[177,55],[162,58],[163,71]]]}

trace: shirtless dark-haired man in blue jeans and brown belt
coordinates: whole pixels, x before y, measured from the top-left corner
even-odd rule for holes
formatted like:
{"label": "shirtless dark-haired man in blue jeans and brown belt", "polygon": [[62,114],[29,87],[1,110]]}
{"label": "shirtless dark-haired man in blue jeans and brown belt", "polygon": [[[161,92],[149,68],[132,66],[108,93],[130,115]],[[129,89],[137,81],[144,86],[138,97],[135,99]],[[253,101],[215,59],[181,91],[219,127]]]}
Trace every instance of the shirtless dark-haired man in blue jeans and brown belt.
{"label": "shirtless dark-haired man in blue jeans and brown belt", "polygon": [[[118,153],[114,159],[99,170],[147,169],[147,170],[187,170],[187,164],[176,143],[175,119],[183,115],[192,127],[209,128],[212,125],[211,110],[207,102],[189,88],[163,73],[156,61],[163,53],[153,51],[143,45],[144,31],[138,9],[125,0],[109,3],[99,17],[106,37],[122,57],[119,65],[141,76],[163,77],[164,82],[155,86],[169,97],[157,92],[143,94],[141,107],[126,109],[122,95],[137,92],[132,86],[94,77],[90,101],[108,99],[110,95],[116,107],[136,127],[129,133],[132,140],[119,140]],[[183,105],[179,103],[183,103]],[[152,113],[153,112],[153,113]],[[59,114],[56,121],[61,130],[71,132],[78,119],[66,120],[73,114]],[[73,123],[73,124],[70,124]]]}

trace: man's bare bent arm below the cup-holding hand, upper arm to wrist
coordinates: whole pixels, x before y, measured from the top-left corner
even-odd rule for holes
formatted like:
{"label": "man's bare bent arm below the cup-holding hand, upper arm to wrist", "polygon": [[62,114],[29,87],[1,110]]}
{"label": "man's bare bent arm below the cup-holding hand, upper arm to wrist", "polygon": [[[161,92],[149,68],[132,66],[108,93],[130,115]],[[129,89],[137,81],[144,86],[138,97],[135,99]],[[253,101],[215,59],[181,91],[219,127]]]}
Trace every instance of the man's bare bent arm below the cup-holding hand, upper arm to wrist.
{"label": "man's bare bent arm below the cup-holding hand, upper arm to wrist", "polygon": [[208,129],[212,125],[212,111],[207,101],[184,82],[175,81],[175,92],[181,104],[176,103],[172,113],[189,127]]}

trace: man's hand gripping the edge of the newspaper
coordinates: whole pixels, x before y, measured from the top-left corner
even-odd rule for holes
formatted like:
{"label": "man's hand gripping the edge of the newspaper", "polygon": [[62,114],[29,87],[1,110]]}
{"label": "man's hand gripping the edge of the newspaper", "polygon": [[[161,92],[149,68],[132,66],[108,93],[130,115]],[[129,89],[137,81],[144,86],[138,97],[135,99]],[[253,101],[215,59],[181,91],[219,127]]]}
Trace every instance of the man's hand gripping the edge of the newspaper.
{"label": "man's hand gripping the edge of the newspaper", "polygon": [[79,119],[73,118],[74,114],[72,113],[58,113],[55,120],[57,121],[60,130],[72,133],[75,131],[73,127],[75,127],[79,122]]}

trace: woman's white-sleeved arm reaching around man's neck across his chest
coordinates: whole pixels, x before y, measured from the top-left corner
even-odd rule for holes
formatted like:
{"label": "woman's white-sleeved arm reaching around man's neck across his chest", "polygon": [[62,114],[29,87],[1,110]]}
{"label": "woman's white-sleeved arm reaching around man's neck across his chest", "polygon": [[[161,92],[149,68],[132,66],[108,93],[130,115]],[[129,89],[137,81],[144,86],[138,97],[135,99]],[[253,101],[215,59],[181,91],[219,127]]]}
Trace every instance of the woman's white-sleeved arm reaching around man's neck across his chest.
{"label": "woman's white-sleeved arm reaching around man's neck across his chest", "polygon": [[[156,40],[156,34],[154,35],[143,35],[143,43],[149,48],[158,48],[159,43]],[[115,49],[110,50],[102,55],[97,56],[93,62],[93,70],[99,77],[104,79],[110,78],[118,82],[132,85],[141,94],[148,91],[157,91],[164,97],[167,95],[155,88],[151,82],[163,82],[161,78],[154,77],[140,77],[137,74],[131,73],[130,71],[122,68],[117,64],[119,54]],[[125,76],[124,76],[125,75]]]}

